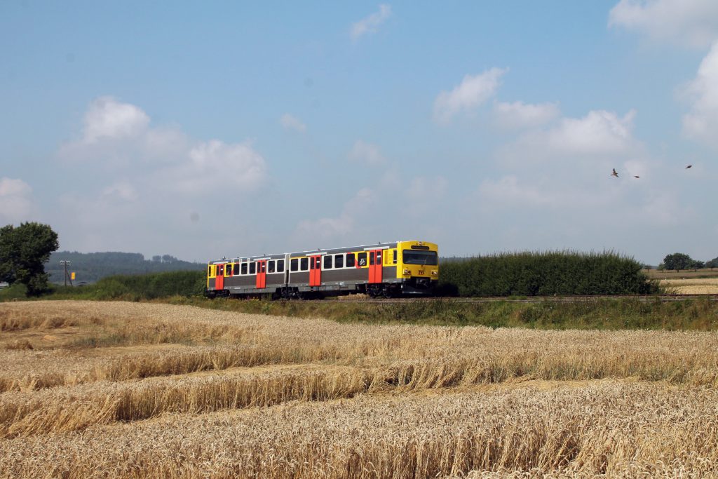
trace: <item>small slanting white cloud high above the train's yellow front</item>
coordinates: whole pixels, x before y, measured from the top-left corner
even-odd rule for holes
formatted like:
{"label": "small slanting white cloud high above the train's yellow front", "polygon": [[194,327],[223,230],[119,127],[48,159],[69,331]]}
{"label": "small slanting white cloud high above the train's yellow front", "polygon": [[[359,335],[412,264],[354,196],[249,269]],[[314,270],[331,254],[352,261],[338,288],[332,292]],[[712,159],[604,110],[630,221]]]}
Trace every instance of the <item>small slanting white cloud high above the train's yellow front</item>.
{"label": "small slanting white cloud high above the train's yellow front", "polygon": [[442,91],[434,101],[434,118],[446,122],[461,112],[470,112],[492,98],[508,70],[492,68],[479,75],[466,75],[451,91]]}

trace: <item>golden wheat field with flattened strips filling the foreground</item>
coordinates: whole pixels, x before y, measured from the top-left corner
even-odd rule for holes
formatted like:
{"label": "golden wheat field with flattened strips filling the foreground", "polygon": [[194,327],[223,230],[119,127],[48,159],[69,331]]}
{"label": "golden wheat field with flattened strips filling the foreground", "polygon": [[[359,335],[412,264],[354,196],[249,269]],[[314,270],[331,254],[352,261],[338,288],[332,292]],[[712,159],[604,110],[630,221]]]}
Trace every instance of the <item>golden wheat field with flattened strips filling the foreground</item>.
{"label": "golden wheat field with flattened strips filling the foreground", "polygon": [[718,335],[0,304],[0,477],[718,477]]}

